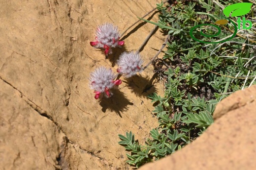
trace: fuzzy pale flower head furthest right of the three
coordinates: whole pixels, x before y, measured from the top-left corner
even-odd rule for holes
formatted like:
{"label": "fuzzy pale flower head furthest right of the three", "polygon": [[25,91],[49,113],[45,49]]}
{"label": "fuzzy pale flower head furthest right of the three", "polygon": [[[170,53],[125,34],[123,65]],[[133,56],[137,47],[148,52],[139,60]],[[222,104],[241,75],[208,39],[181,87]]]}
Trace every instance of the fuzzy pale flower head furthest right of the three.
{"label": "fuzzy pale flower head furthest right of the three", "polygon": [[137,72],[142,72],[143,60],[137,52],[123,52],[117,60],[118,73],[124,74],[125,77],[131,77]]}

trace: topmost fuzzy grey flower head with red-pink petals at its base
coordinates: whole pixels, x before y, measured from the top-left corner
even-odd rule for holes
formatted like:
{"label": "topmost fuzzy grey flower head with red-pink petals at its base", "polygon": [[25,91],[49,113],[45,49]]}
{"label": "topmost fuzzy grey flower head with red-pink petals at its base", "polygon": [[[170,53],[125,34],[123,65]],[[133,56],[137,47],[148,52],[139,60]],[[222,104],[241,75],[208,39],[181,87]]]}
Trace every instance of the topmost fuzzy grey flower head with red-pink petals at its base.
{"label": "topmost fuzzy grey flower head with red-pink petals at its base", "polygon": [[113,24],[102,24],[96,29],[96,41],[90,42],[91,46],[97,49],[105,49],[105,55],[111,54],[111,48],[121,47],[124,41],[119,41],[120,35],[117,26]]}

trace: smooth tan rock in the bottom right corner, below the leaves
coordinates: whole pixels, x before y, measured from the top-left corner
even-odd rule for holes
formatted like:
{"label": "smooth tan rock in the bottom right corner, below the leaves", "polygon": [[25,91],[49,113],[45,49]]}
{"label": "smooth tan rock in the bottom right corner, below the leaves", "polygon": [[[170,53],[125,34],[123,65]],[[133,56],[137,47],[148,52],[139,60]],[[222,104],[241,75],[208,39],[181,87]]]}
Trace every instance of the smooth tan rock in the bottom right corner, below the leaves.
{"label": "smooth tan rock in the bottom right corner, below the leaves", "polygon": [[215,122],[192,144],[139,170],[253,170],[256,85],[222,100]]}

